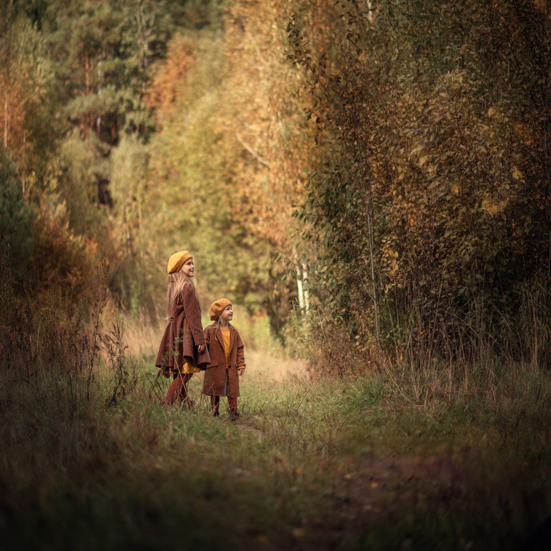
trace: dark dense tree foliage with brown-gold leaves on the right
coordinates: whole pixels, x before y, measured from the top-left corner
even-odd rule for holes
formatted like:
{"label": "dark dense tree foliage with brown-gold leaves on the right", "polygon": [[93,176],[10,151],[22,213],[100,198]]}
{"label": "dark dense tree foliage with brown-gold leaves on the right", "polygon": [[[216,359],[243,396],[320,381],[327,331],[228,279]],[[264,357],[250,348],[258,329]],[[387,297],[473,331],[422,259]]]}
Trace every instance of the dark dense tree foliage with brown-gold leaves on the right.
{"label": "dark dense tree foliage with brown-gold leaves on the right", "polygon": [[515,316],[518,286],[549,263],[547,7],[376,7],[341,3],[331,72],[312,29],[291,21],[312,110],[334,136],[298,211],[323,244],[316,295],[350,332],[381,317],[389,345],[412,326],[440,349],[474,322],[499,334],[493,320]]}

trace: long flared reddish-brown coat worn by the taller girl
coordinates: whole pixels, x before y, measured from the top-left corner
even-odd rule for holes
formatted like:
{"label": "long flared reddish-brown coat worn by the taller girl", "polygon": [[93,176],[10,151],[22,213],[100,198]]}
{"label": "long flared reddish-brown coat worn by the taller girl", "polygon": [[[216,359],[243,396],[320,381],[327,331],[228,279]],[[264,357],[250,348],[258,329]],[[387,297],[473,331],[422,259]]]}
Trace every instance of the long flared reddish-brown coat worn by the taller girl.
{"label": "long flared reddish-brown coat worn by the taller girl", "polygon": [[182,295],[176,298],[170,310],[169,322],[161,339],[155,365],[161,369],[174,368],[176,360],[179,367],[187,361],[199,369],[206,369],[210,363],[208,348],[198,354],[199,344],[206,344],[201,310],[195,289],[191,283],[186,283]]}

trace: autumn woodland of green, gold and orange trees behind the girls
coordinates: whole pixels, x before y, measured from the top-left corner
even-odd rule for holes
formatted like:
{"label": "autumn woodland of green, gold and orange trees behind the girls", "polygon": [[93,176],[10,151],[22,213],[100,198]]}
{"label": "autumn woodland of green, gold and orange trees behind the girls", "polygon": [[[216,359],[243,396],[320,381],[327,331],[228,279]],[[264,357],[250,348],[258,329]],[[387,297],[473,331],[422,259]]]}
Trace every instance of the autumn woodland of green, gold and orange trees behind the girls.
{"label": "autumn woodland of green, gold and orange trees behind the girls", "polygon": [[296,301],[362,348],[452,353],[514,325],[516,353],[542,349],[548,11],[3,2],[2,247],[70,301],[106,253],[131,314],[163,316],[186,247],[206,304],[283,338]]}

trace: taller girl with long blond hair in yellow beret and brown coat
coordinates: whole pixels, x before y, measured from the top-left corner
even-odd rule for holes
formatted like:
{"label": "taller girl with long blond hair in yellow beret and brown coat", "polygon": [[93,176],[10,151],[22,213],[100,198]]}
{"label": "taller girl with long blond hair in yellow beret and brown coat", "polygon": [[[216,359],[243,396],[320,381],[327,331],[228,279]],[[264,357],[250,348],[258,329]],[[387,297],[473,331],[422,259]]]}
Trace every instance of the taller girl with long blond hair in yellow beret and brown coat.
{"label": "taller girl with long blond hair in yellow beret and brown coat", "polygon": [[180,251],[172,255],[167,271],[169,322],[155,365],[165,377],[174,376],[165,403],[172,404],[180,399],[191,408],[193,404],[187,395],[187,382],[194,373],[207,367],[210,356],[203,333],[199,297],[191,280],[195,266],[190,253]]}

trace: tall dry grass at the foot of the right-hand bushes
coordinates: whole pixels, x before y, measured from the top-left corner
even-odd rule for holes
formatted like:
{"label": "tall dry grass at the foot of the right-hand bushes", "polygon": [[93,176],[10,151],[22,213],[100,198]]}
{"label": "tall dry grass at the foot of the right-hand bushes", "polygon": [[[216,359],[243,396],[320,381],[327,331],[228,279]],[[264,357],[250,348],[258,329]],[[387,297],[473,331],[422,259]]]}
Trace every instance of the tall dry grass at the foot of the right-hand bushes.
{"label": "tall dry grass at the foot of the right-hand bushes", "polygon": [[[318,308],[291,318],[294,353],[306,359],[312,380],[326,377],[375,377],[404,406],[434,410],[478,408],[481,415],[499,417],[507,427],[530,420],[533,430],[549,438],[551,421],[551,293],[547,273],[539,273],[520,289],[516,317],[495,311],[499,331],[483,322],[491,308],[473,291],[463,317],[430,327],[421,316],[403,316],[401,342],[381,350],[369,334],[347,337],[344,322]],[[515,319],[515,321],[511,321]],[[428,334],[434,336],[434,345]],[[422,335],[423,338],[419,338]]]}

